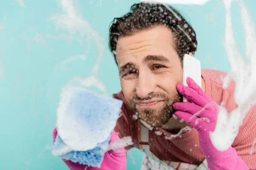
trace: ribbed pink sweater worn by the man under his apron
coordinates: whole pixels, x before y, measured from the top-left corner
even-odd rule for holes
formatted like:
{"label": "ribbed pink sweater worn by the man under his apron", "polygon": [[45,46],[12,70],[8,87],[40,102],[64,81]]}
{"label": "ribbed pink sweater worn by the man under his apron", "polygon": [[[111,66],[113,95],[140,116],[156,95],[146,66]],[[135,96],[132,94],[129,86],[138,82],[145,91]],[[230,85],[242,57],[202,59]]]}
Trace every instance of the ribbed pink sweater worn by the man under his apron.
{"label": "ribbed pink sweater worn by the man under his apron", "polygon": [[[234,88],[235,83],[231,82],[229,87],[222,89],[221,76],[224,77],[226,73],[215,70],[202,69],[202,77],[205,80],[206,93],[219,105],[222,101],[225,103],[227,111],[233,111],[237,105],[234,102]],[[119,133],[119,137],[131,136],[134,142],[132,147],[139,148],[138,140],[138,120],[133,119],[135,114],[129,108],[122,91],[118,94],[113,94],[113,97],[124,102],[122,105],[122,116],[118,119],[115,131]],[[162,135],[155,135],[155,130],[149,131],[149,138],[151,139],[151,152],[154,153],[160,160],[179,161],[192,164],[201,164],[204,161],[204,155],[199,147],[198,132],[192,128],[187,133],[181,134],[181,138],[166,140],[165,136],[170,136],[172,133],[160,128]],[[250,155],[250,149],[253,141],[256,138],[256,106],[251,108],[240,127],[239,134],[233,142],[232,147],[236,149],[237,153],[250,170],[256,170],[256,146],[253,154]],[[221,139],[220,139],[221,140]]]}

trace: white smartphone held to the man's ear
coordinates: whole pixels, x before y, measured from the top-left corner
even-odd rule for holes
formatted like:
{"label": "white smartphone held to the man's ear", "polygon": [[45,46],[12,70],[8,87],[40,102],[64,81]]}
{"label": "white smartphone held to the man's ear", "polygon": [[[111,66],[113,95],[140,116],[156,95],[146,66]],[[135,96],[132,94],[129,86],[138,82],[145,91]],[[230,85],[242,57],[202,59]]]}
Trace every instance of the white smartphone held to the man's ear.
{"label": "white smartphone held to the man's ear", "polygon": [[[185,54],[183,57],[183,85],[185,86],[188,86],[186,82],[187,77],[192,78],[200,87],[202,86],[201,62],[189,54]],[[189,101],[183,96],[183,102]]]}

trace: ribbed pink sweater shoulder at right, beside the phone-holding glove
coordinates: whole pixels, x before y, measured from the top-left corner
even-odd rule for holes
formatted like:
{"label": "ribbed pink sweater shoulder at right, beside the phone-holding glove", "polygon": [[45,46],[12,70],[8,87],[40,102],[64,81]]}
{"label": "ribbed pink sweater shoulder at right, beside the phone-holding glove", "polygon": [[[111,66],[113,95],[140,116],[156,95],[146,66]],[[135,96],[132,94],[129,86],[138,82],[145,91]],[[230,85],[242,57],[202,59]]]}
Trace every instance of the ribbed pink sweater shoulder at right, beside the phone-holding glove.
{"label": "ribbed pink sweater shoulder at right, beside the phone-holding glove", "polygon": [[[236,82],[234,82],[233,80],[230,81],[227,88],[223,89],[223,78],[225,76],[227,76],[227,73],[224,71],[202,69],[202,77],[205,79],[208,88],[210,86],[210,94],[208,95],[211,96],[212,99],[214,99],[215,102],[217,102],[219,105],[222,103],[227,111],[230,113],[237,108],[237,104],[235,102]],[[236,137],[233,146],[238,146],[239,144],[246,142],[247,140],[250,140],[250,142],[252,142],[251,136],[255,135],[256,133],[255,126],[256,105],[252,106],[252,108],[244,118],[243,123],[239,128],[239,134]]]}

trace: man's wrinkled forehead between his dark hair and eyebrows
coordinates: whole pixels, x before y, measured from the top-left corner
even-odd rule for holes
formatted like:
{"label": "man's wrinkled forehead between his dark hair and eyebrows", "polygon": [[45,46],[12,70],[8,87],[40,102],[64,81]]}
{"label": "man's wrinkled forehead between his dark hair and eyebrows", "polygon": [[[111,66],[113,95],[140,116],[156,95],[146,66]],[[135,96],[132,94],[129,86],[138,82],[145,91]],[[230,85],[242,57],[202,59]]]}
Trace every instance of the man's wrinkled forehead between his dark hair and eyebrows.
{"label": "man's wrinkled forehead between his dark hair and eyebrows", "polygon": [[163,55],[168,57],[175,53],[172,32],[164,27],[157,26],[131,36],[119,37],[116,45],[116,59],[118,65],[136,60],[138,62],[147,55]]}

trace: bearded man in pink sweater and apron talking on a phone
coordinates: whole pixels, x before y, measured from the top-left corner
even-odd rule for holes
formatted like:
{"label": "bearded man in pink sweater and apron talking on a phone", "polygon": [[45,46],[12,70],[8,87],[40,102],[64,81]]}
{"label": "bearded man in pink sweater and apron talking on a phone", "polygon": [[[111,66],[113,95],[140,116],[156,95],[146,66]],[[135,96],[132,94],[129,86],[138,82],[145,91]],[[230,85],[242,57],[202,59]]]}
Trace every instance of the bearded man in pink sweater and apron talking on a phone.
{"label": "bearded man in pink sweater and apron talking on a phone", "polygon": [[[134,4],[128,14],[113,20],[109,43],[122,87],[113,97],[124,102],[114,130],[120,138],[132,137],[134,144],[125,149],[146,153],[142,169],[256,170],[256,152],[250,154],[256,107],[247,114],[232,147],[220,152],[209,131],[215,128],[221,102],[229,112],[237,107],[235,83],[224,90],[221,76],[226,73],[202,69],[203,90],[192,79],[187,79],[189,87],[182,85],[183,55],[193,56],[197,40],[179,12],[160,4]],[[182,102],[182,96],[194,104]],[[201,115],[193,116],[198,111]],[[196,123],[202,117],[208,121]]]}

